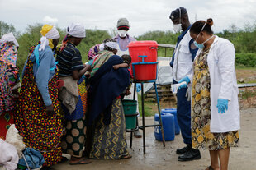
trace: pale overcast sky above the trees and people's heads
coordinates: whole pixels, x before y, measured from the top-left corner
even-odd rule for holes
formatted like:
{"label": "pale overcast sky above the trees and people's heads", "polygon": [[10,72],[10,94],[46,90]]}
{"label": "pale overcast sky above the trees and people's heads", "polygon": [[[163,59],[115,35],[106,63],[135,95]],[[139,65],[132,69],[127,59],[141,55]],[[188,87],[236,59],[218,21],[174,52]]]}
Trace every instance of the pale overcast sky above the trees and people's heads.
{"label": "pale overcast sky above the trees and people's heads", "polygon": [[66,28],[71,22],[86,29],[114,30],[117,20],[126,17],[129,33],[138,36],[149,30],[173,30],[168,16],[178,7],[187,8],[191,22],[211,17],[216,32],[256,21],[255,0],[0,0],[0,21],[21,32],[35,23]]}

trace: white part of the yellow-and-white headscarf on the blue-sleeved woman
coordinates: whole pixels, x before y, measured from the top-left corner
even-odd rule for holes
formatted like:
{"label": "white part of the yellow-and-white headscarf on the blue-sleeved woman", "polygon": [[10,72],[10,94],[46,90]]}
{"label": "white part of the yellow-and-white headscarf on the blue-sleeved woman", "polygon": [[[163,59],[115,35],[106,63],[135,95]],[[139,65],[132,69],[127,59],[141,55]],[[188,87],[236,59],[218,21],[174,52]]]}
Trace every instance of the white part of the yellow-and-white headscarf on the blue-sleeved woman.
{"label": "white part of the yellow-and-white headscarf on the blue-sleeved woman", "polygon": [[40,48],[39,51],[45,50],[46,45],[49,45],[48,39],[59,39],[59,31],[53,26],[45,36],[42,36],[40,39]]}

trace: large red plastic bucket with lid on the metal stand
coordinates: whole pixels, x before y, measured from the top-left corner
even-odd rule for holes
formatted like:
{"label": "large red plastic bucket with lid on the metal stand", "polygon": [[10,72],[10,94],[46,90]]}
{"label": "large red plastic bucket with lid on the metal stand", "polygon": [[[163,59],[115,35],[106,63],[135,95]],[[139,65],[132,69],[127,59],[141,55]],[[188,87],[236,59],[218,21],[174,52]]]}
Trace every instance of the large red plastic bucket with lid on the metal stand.
{"label": "large red plastic bucket with lid on the metal stand", "polygon": [[[132,71],[135,73],[135,80],[156,80],[157,71],[157,48],[156,41],[133,41],[128,45],[131,63],[135,64]],[[145,56],[145,57],[142,57]],[[144,59],[143,59],[144,58]],[[153,62],[153,63],[149,63]]]}

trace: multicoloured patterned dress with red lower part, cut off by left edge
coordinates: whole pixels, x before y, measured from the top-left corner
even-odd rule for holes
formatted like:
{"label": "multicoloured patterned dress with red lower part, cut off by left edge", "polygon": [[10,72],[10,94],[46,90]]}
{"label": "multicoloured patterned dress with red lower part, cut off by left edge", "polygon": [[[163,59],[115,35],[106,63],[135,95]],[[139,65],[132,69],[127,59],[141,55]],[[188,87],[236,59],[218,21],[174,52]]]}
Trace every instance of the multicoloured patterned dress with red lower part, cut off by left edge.
{"label": "multicoloured patterned dress with red lower part, cut off by left edge", "polygon": [[0,50],[0,138],[5,140],[8,128],[14,123],[13,108],[20,77],[16,67],[17,48],[14,45],[0,43]]}

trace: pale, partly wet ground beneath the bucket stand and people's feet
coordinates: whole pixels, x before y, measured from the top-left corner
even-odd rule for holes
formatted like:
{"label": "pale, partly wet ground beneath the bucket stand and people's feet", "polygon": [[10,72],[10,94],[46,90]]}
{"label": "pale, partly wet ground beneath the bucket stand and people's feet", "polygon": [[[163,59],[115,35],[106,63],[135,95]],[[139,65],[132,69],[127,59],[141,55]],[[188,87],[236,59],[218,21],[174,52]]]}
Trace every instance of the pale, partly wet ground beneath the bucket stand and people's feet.
{"label": "pale, partly wet ground beneath the bucket stand and people's feet", "polygon": [[[154,117],[146,117],[146,124],[153,124]],[[141,123],[140,123],[141,125]],[[256,169],[256,108],[248,108],[241,111],[241,129],[239,130],[239,148],[230,149],[230,170],[255,170]],[[126,136],[130,145],[130,133]],[[163,143],[154,140],[154,128],[146,128],[146,154],[143,154],[142,138],[133,138],[133,147],[130,150],[131,159],[121,160],[92,160],[87,165],[69,165],[59,163],[53,168],[56,170],[203,170],[210,165],[210,156],[207,150],[201,150],[201,159],[190,162],[179,162],[177,148],[183,147],[181,135],[175,136],[175,140]]]}

